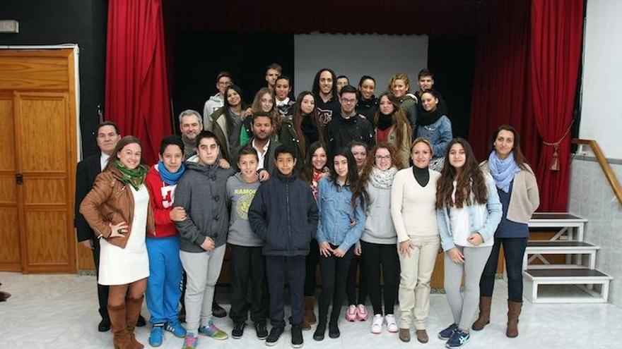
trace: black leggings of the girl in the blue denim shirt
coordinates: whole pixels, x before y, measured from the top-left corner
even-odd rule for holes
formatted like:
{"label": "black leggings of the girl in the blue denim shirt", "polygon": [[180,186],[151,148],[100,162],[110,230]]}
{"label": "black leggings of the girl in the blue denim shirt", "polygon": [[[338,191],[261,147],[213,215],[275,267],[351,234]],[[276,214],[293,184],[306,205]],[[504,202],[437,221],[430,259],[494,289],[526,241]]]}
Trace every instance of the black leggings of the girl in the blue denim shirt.
{"label": "black leggings of the girl in the blue denim shirt", "polygon": [[[339,246],[331,245],[331,248],[336,247]],[[330,320],[336,322],[339,319],[341,305],[344,304],[346,293],[346,276],[348,276],[348,267],[350,267],[353,255],[354,247],[350,247],[344,257],[319,256],[319,268],[322,270],[322,292],[319,293],[319,323],[326,323],[331,300],[333,301],[333,309]]]}

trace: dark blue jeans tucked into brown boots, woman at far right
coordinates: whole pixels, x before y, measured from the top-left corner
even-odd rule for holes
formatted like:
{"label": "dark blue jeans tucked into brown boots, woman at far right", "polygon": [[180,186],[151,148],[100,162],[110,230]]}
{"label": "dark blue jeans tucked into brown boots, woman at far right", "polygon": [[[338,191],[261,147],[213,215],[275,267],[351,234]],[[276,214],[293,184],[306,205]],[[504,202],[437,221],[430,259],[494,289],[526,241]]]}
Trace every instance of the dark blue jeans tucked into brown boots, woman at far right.
{"label": "dark blue jeans tucked into brown boots, woman at far right", "polygon": [[480,295],[492,297],[495,274],[499,261],[499,250],[503,245],[505,270],[507,271],[507,300],[522,302],[522,259],[527,247],[527,238],[496,238],[491,256],[488,257],[479,281]]}

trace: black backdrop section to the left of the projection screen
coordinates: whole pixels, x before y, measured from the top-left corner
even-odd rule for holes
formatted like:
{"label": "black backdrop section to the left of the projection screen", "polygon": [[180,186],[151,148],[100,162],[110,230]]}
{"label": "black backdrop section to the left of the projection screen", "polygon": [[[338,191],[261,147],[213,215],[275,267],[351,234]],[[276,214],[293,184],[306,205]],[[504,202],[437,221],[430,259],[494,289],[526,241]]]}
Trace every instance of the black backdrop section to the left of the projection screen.
{"label": "black backdrop section to the left of the projection screen", "polygon": [[[185,109],[203,114],[206,100],[216,94],[216,75],[228,71],[252,103],[255,92],[266,86],[266,66],[278,63],[293,78],[292,34],[192,32],[177,35],[172,71],[172,104],[177,116]],[[293,81],[295,83],[295,81]]]}

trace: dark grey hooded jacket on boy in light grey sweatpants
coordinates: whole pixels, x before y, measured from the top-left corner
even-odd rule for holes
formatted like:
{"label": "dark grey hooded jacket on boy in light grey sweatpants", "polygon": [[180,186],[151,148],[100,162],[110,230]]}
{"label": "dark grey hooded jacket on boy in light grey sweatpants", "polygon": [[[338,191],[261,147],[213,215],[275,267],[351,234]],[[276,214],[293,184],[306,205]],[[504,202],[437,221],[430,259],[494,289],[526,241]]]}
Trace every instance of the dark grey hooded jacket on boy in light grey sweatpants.
{"label": "dark grey hooded jacket on boy in light grey sweatpants", "polygon": [[186,219],[176,222],[180,232],[180,250],[204,252],[201,243],[209,236],[216,247],[227,242],[229,212],[226,183],[233,169],[222,169],[216,164],[201,166],[186,162],[186,172],[177,183],[174,206],[186,210]]}

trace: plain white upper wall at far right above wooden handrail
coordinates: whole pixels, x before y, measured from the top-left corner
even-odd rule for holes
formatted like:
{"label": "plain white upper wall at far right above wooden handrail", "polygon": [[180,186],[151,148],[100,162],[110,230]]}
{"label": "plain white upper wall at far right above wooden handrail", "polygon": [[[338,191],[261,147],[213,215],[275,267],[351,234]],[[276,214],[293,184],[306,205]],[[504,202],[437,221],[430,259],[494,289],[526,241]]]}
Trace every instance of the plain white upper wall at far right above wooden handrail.
{"label": "plain white upper wall at far right above wooden handrail", "polygon": [[587,0],[579,136],[622,159],[622,1]]}

